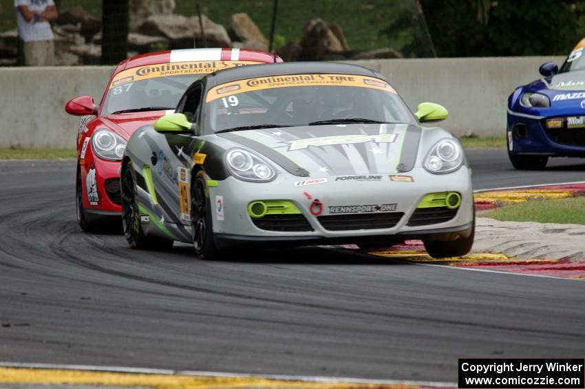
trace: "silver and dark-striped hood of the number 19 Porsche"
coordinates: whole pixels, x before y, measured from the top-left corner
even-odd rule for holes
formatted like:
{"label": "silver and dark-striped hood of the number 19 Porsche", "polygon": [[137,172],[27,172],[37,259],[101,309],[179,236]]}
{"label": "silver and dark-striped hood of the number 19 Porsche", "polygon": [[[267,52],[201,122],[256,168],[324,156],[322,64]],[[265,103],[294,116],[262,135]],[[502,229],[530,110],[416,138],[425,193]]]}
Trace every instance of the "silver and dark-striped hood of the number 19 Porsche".
{"label": "silver and dark-striped hood of the number 19 Porsche", "polygon": [[408,124],[350,124],[215,134],[257,151],[297,176],[376,175],[410,171],[422,129]]}

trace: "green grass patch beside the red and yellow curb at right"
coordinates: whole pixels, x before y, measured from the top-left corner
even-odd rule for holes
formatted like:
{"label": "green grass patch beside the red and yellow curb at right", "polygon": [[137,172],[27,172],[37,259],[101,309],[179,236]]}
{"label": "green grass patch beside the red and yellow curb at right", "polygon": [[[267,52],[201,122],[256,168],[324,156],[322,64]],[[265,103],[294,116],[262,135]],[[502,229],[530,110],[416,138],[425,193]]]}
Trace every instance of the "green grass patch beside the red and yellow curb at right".
{"label": "green grass patch beside the red and yellow curb at right", "polygon": [[485,218],[514,222],[585,224],[585,197],[529,200],[482,213]]}

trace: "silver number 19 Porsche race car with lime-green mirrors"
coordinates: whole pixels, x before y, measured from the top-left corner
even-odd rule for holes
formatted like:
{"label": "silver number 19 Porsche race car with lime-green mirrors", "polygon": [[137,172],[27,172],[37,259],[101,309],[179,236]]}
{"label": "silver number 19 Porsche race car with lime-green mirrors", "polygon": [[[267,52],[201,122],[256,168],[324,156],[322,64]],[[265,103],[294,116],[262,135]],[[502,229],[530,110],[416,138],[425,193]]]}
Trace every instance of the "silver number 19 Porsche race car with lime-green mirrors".
{"label": "silver number 19 Porsche race car with lime-green mirrors", "polygon": [[474,240],[470,170],[452,134],[419,122],[381,74],[339,63],[222,70],[130,138],[123,227],[136,249],[193,243],[211,259],[244,244],[390,246],[433,257]]}

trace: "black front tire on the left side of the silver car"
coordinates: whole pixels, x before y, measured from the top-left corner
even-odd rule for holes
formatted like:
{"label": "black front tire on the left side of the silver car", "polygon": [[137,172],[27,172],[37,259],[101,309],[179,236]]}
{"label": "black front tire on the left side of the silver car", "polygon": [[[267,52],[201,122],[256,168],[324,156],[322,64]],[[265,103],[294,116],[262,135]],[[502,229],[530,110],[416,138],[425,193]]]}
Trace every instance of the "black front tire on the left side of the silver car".
{"label": "black front tire on the left side of the silver car", "polygon": [[195,255],[200,260],[216,260],[220,251],[213,240],[211,201],[203,171],[195,174],[191,185],[191,229]]}

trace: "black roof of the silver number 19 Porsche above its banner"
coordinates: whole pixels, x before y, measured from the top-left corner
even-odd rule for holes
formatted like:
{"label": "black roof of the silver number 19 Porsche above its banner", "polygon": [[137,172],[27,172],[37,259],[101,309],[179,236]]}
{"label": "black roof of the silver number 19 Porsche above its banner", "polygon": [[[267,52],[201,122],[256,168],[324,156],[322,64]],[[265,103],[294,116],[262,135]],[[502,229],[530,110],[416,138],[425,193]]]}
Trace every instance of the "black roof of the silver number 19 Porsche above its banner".
{"label": "black roof of the silver number 19 Porsche above its banner", "polygon": [[355,74],[357,76],[374,76],[385,79],[381,74],[367,67],[337,62],[289,62],[269,63],[266,65],[231,67],[208,74],[207,86],[229,83],[245,78],[284,76],[288,74]]}

